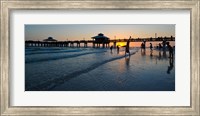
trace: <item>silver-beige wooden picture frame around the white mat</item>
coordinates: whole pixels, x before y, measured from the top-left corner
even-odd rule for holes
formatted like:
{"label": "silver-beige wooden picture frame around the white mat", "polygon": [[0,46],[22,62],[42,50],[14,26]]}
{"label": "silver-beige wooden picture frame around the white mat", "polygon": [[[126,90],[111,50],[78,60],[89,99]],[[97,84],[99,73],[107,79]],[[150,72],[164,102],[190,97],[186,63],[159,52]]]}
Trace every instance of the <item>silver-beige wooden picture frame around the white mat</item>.
{"label": "silver-beige wooden picture frame around the white mat", "polygon": [[[199,0],[0,0],[1,115],[200,115]],[[10,106],[10,12],[12,10],[190,10],[190,106]]]}

